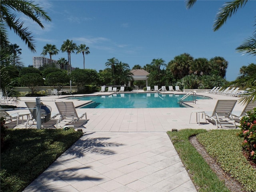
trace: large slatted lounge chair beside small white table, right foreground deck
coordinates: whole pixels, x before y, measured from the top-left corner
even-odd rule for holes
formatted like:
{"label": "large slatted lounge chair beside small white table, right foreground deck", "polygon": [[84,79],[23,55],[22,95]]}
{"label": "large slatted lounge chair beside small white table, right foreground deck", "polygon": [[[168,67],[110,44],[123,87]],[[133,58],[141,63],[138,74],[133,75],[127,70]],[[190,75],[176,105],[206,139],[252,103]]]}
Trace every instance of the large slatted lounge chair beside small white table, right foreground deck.
{"label": "large slatted lounge chair beside small white table, right foreground deck", "polygon": [[205,116],[215,121],[217,128],[220,125],[230,126],[234,125],[236,128],[236,122],[232,118],[231,112],[234,109],[237,100],[218,100],[216,106],[212,112],[205,112]]}

